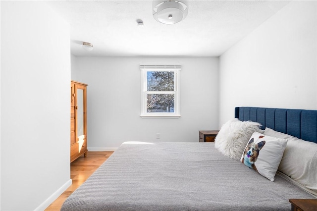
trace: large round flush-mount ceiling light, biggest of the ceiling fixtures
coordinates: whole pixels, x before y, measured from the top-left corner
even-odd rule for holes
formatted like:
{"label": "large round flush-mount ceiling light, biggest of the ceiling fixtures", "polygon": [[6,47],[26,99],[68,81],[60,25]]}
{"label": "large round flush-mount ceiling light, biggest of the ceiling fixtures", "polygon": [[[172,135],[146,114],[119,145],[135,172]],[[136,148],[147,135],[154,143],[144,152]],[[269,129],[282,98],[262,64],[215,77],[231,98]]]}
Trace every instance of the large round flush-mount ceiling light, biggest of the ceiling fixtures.
{"label": "large round flush-mount ceiling light, biggest of the ceiling fixtures", "polygon": [[162,1],[153,7],[153,17],[164,24],[178,23],[187,13],[187,5],[179,0]]}

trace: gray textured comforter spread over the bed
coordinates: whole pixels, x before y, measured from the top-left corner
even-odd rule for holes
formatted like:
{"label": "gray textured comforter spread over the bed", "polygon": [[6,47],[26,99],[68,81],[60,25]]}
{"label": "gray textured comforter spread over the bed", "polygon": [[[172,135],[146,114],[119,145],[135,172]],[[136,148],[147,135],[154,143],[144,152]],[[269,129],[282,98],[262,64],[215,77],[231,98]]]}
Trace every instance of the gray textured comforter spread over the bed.
{"label": "gray textured comforter spread over the bed", "polygon": [[126,142],[61,211],[289,211],[314,198],[279,175],[271,182],[213,143]]}

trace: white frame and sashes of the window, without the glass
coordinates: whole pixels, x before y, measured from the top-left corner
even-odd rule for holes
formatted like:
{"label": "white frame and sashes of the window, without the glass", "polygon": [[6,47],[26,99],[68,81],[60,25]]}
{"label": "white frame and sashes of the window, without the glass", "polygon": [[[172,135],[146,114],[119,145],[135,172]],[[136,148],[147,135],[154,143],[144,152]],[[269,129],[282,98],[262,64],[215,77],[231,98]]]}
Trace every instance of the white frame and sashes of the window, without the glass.
{"label": "white frame and sashes of the window, without the glass", "polygon": [[[142,118],[179,118],[180,117],[180,89],[179,78],[181,66],[178,65],[140,65],[141,69],[141,117]],[[174,91],[147,91],[147,72],[171,71],[174,72]],[[172,94],[175,95],[174,112],[147,112],[147,94]]]}

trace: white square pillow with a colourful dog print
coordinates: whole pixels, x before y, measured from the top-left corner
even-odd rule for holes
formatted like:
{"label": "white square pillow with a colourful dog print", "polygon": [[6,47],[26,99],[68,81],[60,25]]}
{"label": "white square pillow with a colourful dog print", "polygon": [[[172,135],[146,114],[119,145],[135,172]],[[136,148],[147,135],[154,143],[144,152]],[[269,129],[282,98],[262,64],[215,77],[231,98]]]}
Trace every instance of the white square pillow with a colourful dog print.
{"label": "white square pillow with a colourful dog print", "polygon": [[273,182],[286,144],[287,139],[254,132],[240,160]]}

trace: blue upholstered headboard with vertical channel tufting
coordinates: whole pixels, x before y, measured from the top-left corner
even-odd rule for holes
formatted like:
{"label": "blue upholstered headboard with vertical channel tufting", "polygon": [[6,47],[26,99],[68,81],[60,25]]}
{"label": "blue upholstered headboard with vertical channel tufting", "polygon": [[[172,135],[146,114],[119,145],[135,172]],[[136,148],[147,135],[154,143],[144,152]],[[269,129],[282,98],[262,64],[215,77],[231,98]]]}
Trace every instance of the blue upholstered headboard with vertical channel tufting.
{"label": "blue upholstered headboard with vertical channel tufting", "polygon": [[273,130],[317,143],[317,110],[236,107],[235,118],[251,120]]}

